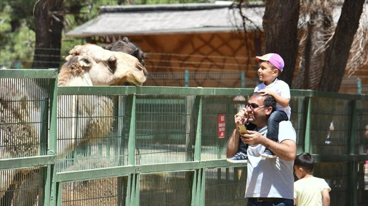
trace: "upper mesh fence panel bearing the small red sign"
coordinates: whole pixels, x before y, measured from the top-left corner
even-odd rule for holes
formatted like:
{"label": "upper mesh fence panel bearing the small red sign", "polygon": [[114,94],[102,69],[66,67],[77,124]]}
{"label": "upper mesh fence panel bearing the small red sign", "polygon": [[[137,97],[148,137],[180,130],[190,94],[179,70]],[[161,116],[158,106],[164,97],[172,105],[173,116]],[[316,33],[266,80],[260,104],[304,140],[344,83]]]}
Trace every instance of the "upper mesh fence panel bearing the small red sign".
{"label": "upper mesh fence panel bearing the small red sign", "polygon": [[203,96],[201,160],[226,158],[227,140],[235,129],[234,115],[245,102],[245,97],[237,99],[234,95]]}

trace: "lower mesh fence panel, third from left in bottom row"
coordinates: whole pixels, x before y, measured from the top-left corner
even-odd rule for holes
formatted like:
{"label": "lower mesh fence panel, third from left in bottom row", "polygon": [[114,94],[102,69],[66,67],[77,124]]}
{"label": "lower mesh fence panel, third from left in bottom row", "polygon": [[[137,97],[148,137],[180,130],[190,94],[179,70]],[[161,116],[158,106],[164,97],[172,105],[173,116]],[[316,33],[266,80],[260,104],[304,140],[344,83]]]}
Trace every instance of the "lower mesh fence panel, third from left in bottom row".
{"label": "lower mesh fence panel, third from left in bottom row", "polygon": [[140,175],[139,205],[191,205],[193,172]]}

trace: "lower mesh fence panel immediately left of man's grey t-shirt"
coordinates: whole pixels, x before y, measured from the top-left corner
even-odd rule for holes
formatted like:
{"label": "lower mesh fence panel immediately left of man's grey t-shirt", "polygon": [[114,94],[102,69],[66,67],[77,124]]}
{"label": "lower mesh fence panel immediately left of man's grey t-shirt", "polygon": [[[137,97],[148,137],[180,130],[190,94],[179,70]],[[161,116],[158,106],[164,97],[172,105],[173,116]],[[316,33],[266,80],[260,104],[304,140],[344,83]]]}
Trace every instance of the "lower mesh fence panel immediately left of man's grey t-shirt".
{"label": "lower mesh fence panel immediately left of man's grey t-shirt", "polygon": [[205,205],[246,205],[246,167],[206,170]]}

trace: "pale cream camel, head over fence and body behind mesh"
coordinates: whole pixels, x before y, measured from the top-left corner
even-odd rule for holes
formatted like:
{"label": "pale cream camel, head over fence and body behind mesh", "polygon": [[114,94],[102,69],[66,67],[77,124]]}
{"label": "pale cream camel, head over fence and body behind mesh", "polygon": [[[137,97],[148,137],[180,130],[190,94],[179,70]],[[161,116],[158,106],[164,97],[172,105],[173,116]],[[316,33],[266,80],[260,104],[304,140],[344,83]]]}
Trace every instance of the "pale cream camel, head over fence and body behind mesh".
{"label": "pale cream camel, head over fence and body behind mesh", "polygon": [[[146,80],[141,63],[131,55],[112,52],[93,44],[77,45],[70,50],[69,54],[65,58],[67,62],[58,74],[58,86],[109,86],[124,82],[141,86]],[[41,118],[41,107],[34,104],[35,101],[32,100],[35,99],[34,93],[40,95],[45,91],[34,82],[30,84],[27,85],[27,88],[38,92],[25,92],[25,85],[19,85],[15,79],[1,79],[2,91],[10,91],[0,94],[0,121],[5,123],[0,127],[1,159],[19,157],[17,156],[19,153],[20,157],[39,155],[39,148],[35,145],[38,146],[40,139],[41,123],[38,122],[41,122],[41,119],[33,120],[36,124],[25,124],[24,122],[29,121],[30,117]],[[19,99],[23,101],[16,101]],[[98,118],[102,113],[108,118]],[[61,159],[78,146],[82,139],[103,137],[109,133],[113,122],[113,101],[105,96],[93,96],[93,100],[87,99],[86,96],[58,96],[57,116],[57,154],[58,159]],[[76,129],[70,129],[70,127],[76,127]],[[22,148],[16,148],[19,147],[19,144],[22,144],[20,146]],[[23,148],[23,145],[31,146]],[[0,199],[5,194],[4,191],[13,184],[16,172],[19,171],[0,171],[2,182],[5,182],[0,185]],[[32,184],[37,185],[38,171],[21,170],[21,173],[24,172],[30,175],[20,183],[19,187],[27,188]],[[35,190],[30,192],[33,193],[31,197],[33,201],[36,201],[34,198],[37,197],[34,194],[38,194],[38,189]],[[29,191],[24,191],[24,193],[27,192],[29,193]],[[26,194],[21,193],[22,191],[15,195],[13,201],[19,203],[24,201],[22,199],[27,199],[24,198]]]}

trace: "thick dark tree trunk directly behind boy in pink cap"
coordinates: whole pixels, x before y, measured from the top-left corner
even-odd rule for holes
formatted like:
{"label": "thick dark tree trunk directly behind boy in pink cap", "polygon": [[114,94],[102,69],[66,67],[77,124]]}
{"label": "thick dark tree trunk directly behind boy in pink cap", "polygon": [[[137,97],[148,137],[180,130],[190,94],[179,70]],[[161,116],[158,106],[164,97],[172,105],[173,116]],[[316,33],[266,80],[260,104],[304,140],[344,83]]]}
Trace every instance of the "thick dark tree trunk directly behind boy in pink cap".
{"label": "thick dark tree trunk directly behind boy in pink cap", "polygon": [[266,53],[277,53],[284,59],[285,67],[280,75],[291,86],[298,55],[298,20],[300,2],[273,0],[265,2],[263,28]]}

